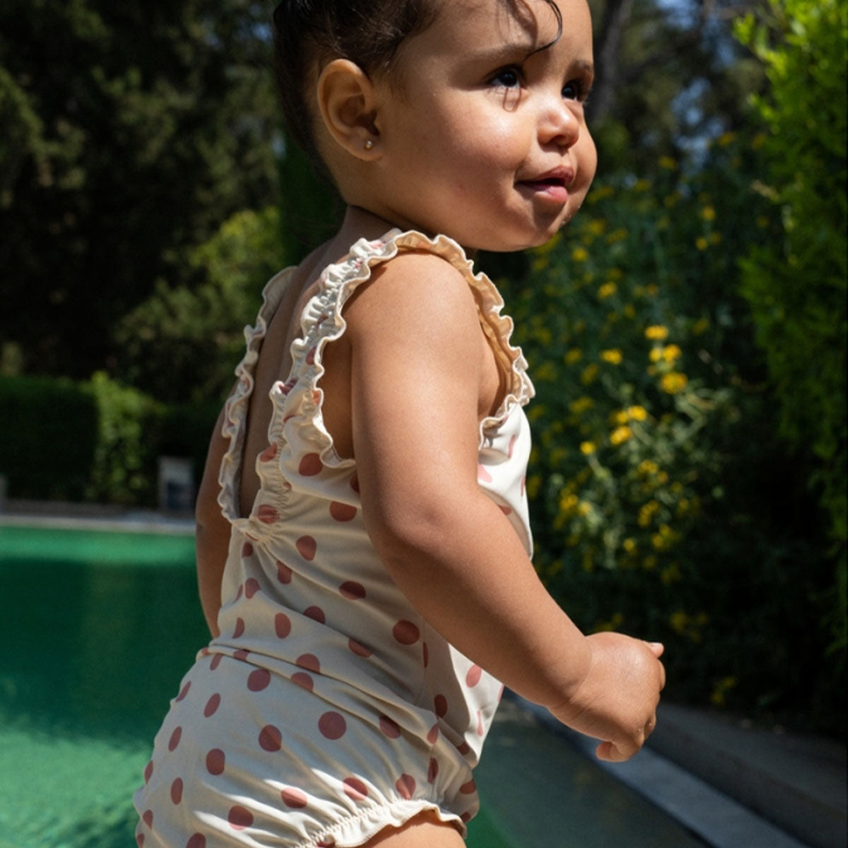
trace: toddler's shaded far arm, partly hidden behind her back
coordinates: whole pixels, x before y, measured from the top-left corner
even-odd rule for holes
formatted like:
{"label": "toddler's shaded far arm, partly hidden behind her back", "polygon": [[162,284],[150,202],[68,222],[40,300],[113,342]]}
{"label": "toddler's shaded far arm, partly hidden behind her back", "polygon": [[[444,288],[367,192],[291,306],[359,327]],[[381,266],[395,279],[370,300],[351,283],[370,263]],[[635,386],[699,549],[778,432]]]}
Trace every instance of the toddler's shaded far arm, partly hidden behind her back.
{"label": "toddler's shaded far arm, partly hidden behind her back", "polygon": [[224,576],[226,552],[230,544],[230,523],[218,505],[218,471],[226,453],[226,439],[220,434],[224,412],[221,410],[206,457],[194,515],[197,522],[195,555],[198,563],[198,593],[209,632],[218,636],[220,582]]}

